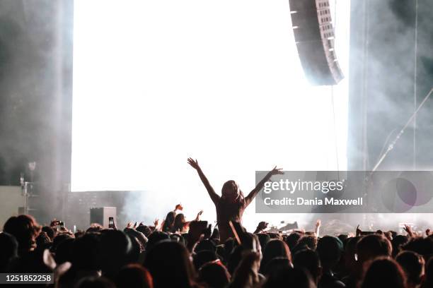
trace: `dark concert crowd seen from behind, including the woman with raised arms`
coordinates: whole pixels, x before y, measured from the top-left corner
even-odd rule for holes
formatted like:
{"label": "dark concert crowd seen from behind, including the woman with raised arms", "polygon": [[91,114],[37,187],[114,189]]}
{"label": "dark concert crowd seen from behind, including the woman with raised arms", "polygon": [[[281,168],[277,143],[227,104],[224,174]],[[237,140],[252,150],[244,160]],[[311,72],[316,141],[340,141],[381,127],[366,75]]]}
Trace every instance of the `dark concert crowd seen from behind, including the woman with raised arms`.
{"label": "dark concert crowd seen from behind, including the woman with raised arms", "polygon": [[403,235],[357,228],[322,236],[318,221],[312,232],[273,233],[260,222],[250,233],[242,226],[243,210],[280,169],[248,196],[235,181],[219,196],[197,161],[189,162],[215,204],[217,227],[201,221],[201,211],[185,220],[181,205],[161,223],[131,222],[125,229],[95,223],[76,233],[56,220],[41,227],[30,215],[14,216],[0,233],[0,272],[52,272],[49,286],[59,288],[433,287],[429,230],[407,226]]}

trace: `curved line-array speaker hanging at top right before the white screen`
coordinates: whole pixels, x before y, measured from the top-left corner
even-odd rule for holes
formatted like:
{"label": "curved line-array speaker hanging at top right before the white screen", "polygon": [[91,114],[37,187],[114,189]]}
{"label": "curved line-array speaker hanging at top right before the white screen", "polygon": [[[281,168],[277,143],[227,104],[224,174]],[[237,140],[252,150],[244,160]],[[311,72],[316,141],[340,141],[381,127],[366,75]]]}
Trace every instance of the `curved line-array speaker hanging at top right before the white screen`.
{"label": "curved line-array speaker hanging at top right before the white screen", "polygon": [[296,48],[313,85],[335,85],[343,75],[335,56],[328,0],[289,0]]}

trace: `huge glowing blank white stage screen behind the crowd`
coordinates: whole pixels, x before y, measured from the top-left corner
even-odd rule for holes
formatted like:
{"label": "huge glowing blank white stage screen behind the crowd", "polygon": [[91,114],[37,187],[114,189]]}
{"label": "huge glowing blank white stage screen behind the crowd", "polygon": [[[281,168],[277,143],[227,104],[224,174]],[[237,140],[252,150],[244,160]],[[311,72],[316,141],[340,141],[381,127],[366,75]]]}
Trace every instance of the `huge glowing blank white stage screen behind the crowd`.
{"label": "huge glowing blank white stage screen behind the crowd", "polygon": [[212,219],[187,157],[217,192],[248,193],[275,165],[346,169],[350,1],[330,2],[333,88],[306,82],[287,0],[75,0],[71,191],[143,191],[145,212]]}

